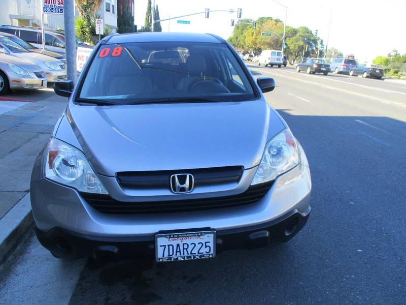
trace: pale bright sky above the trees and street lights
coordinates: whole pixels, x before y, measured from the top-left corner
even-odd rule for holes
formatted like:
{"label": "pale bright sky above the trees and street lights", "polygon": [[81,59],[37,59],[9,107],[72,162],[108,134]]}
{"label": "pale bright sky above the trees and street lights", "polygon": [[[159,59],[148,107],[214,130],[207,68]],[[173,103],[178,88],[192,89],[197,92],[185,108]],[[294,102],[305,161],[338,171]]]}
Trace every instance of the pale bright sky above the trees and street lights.
{"label": "pale bright sky above the trees and street lights", "polygon": [[[135,1],[135,20],[144,24],[147,0]],[[392,49],[406,53],[404,34],[406,0],[280,0],[288,7],[287,25],[307,26],[317,29],[324,45],[334,47],[346,54],[355,54],[360,61],[370,62],[378,55],[387,55]],[[163,21],[162,32],[213,33],[227,39],[233,30],[231,19],[237,20],[236,9],[242,9],[242,18],[273,17],[285,21],[286,9],[273,0],[155,0],[160,18],[181,16],[210,10],[235,9],[229,12],[212,12],[206,19],[204,14],[182,17],[190,24],[178,24],[177,20]],[[330,32],[329,21],[331,13]],[[329,32],[329,35],[328,35]]]}

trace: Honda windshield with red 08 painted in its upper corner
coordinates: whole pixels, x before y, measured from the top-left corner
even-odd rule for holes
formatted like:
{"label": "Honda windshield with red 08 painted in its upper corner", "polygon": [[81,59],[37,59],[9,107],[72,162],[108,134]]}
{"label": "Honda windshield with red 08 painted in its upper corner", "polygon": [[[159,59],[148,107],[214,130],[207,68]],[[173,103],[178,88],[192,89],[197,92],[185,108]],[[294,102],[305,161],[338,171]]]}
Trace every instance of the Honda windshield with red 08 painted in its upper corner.
{"label": "Honda windshield with red 08 painted in its upper corner", "polygon": [[225,44],[122,43],[102,46],[83,82],[80,99],[114,104],[171,101],[244,101],[256,98]]}

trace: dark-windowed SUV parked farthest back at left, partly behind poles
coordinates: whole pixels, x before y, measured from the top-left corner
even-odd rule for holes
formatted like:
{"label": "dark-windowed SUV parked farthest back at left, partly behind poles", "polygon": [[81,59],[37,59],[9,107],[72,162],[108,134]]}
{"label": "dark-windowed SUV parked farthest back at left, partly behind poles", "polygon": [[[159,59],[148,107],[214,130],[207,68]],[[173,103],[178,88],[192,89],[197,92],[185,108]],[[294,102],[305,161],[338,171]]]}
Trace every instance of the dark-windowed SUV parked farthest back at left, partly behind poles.
{"label": "dark-windowed SUV parked farthest back at left, partly behind poles", "polygon": [[[0,32],[13,34],[37,48],[42,48],[42,32],[41,28],[39,27],[0,25]],[[76,44],[80,46],[86,46],[86,44],[82,42],[79,38],[76,38]],[[65,53],[64,32],[46,29],[45,49],[52,52],[64,54]]]}

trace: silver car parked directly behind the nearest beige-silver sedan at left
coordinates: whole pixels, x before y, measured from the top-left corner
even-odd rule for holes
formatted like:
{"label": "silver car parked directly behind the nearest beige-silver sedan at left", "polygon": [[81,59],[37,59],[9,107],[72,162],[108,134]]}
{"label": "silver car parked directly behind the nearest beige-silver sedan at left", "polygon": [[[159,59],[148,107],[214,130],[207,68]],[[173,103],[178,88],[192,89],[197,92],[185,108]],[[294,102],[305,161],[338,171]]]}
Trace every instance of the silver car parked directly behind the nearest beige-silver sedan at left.
{"label": "silver car parked directly behind the nearest beige-silver sedan at left", "polygon": [[0,47],[4,48],[5,54],[9,56],[26,59],[36,64],[45,72],[48,82],[67,79],[66,66],[58,59],[39,53],[28,52],[14,41],[1,35]]}

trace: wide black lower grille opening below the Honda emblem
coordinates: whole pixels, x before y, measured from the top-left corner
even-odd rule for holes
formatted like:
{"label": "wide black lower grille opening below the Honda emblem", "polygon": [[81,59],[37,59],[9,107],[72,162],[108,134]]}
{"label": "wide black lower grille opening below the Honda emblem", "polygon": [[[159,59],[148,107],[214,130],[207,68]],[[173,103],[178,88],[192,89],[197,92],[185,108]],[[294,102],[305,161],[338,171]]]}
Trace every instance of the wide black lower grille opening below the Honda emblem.
{"label": "wide black lower grille opening below the Honda emblem", "polygon": [[102,213],[156,214],[210,210],[252,204],[262,199],[272,187],[272,184],[273,181],[250,186],[247,191],[238,195],[171,201],[126,202],[115,200],[109,195],[81,193],[81,196],[88,204]]}

